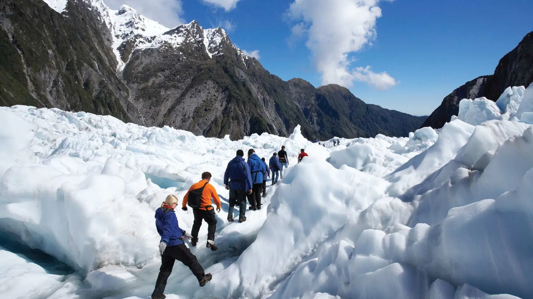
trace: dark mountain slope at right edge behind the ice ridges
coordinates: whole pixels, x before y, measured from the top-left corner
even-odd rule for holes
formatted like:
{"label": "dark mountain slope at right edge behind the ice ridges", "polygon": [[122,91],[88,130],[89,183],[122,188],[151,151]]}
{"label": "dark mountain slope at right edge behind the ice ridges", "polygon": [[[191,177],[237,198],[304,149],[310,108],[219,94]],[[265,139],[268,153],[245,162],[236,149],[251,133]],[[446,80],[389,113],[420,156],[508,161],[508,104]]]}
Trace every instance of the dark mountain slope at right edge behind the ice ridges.
{"label": "dark mountain slope at right edge behind the ice ridges", "polygon": [[496,101],[505,88],[528,87],[531,82],[533,82],[533,31],[529,32],[513,51],[500,59],[494,74],[466,82],[446,96],[422,127],[442,128],[450,121],[451,115],[457,115],[459,102],[463,98],[486,97]]}

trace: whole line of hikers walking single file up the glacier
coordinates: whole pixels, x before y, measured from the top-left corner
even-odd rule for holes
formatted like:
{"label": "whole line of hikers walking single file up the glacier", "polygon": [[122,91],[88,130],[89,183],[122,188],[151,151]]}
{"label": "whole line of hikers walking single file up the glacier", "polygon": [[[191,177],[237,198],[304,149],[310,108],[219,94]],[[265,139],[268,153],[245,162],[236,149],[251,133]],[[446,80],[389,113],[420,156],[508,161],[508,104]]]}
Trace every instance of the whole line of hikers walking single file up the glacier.
{"label": "whole line of hikers walking single file up the glacier", "polygon": [[[304,149],[300,150],[298,163],[308,156]],[[267,164],[264,158],[260,158],[253,148],[248,150],[248,159],[244,159],[244,151],[239,149],[237,155],[228,163],[224,172],[224,185],[229,190],[228,221],[233,222],[233,210],[235,205],[239,206],[239,223],[246,221],[246,200],[250,203],[249,210],[261,210],[261,197],[266,196],[266,181],[272,172],[272,185],[277,184],[279,176],[283,178],[283,170],[289,166],[289,159],[285,146],[281,146],[279,152],[274,152]],[[184,240],[191,241],[192,246],[198,243],[198,232],[205,220],[207,222],[207,243],[206,247],[216,251],[215,230],[216,218],[212,206],[212,200],[216,204],[216,211],[220,213],[221,204],[219,195],[215,187],[209,184],[212,175],[204,172],[201,180],[193,184],[183,197],[183,211],[188,207],[192,208],[194,222],[191,232],[182,230],[177,221],[174,209],[178,205],[177,197],[168,195],[165,201],[156,210],[156,228],[161,236],[159,242],[159,253],[161,254],[161,267],[156,281],[152,299],[163,299],[163,294],[167,279],[172,272],[174,261],[178,260],[189,267],[197,277],[200,287],[203,287],[212,279],[211,273],[205,273],[195,255],[185,246]]]}

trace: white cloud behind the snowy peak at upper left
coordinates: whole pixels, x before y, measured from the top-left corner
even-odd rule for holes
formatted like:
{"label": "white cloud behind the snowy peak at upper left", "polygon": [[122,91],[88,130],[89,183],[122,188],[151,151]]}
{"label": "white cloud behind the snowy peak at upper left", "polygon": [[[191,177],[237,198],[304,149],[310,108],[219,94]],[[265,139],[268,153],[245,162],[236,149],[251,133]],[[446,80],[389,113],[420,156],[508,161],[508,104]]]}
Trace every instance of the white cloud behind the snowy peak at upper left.
{"label": "white cloud behind the snowy peak at upper left", "polygon": [[185,23],[181,0],[104,0],[110,9],[118,10],[126,4],[150,20],[174,28]]}

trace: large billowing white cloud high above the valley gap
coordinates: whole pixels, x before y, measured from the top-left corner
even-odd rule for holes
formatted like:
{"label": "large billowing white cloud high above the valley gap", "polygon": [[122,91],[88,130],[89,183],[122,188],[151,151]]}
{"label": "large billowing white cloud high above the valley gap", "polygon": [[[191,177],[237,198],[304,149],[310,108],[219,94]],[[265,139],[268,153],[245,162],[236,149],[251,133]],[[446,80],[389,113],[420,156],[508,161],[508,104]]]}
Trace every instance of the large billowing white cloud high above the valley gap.
{"label": "large billowing white cloud high above the valley gap", "polygon": [[370,67],[351,67],[350,54],[358,52],[376,37],[376,21],[381,16],[379,0],[294,0],[288,15],[298,23],[293,40],[307,34],[306,46],[322,74],[322,84],[353,86],[353,81],[367,82],[377,89],[387,89],[398,82],[386,72],[375,73]]}

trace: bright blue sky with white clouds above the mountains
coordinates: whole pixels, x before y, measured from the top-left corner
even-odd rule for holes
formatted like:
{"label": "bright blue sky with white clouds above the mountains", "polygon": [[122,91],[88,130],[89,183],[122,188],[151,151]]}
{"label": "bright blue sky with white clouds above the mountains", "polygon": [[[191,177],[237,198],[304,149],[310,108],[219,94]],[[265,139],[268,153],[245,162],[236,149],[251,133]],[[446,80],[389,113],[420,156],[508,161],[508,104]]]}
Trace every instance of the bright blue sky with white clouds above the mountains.
{"label": "bright blue sky with white clouds above the mountains", "polygon": [[[335,82],[366,103],[417,115],[492,74],[533,30],[531,0],[153,0],[160,5],[151,11],[139,9],[140,0],[109,1],[167,27],[192,20],[221,26],[281,79]],[[158,13],[161,7],[172,13]]]}

